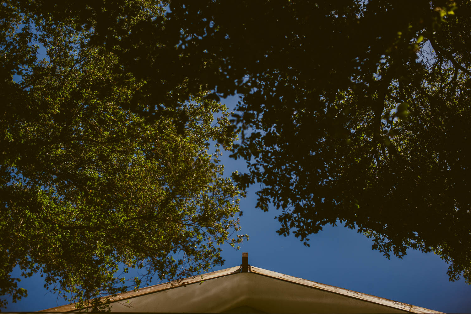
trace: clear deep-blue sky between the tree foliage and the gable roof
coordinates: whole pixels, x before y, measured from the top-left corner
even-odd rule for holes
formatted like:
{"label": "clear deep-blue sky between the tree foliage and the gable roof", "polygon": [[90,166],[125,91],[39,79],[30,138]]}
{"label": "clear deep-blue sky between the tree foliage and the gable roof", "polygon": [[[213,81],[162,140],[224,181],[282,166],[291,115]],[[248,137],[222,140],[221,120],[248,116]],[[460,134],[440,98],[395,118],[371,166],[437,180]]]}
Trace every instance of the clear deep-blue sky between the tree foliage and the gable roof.
{"label": "clear deep-blue sky between the tree foliage and the gable roof", "polygon": [[[234,99],[226,100],[229,108],[234,108]],[[228,155],[224,152],[222,156],[225,175],[244,170],[244,160]],[[276,234],[277,212],[255,209],[256,191],[257,186],[253,186],[240,204],[244,212],[242,232],[249,234],[249,241],[241,245],[240,251],[225,246],[222,256],[226,264],[213,270],[241,264],[244,251],[249,252],[249,264],[253,266],[441,312],[471,312],[471,286],[464,280],[449,282],[447,263],[439,256],[409,251],[404,259],[388,260],[373,251],[371,240],[356,230],[331,226],[310,236],[311,246],[306,247],[294,236]],[[66,303],[57,300],[57,295],[45,290],[43,284],[39,275],[24,279],[21,285],[28,290],[28,297],[10,303],[7,311],[38,311]]]}

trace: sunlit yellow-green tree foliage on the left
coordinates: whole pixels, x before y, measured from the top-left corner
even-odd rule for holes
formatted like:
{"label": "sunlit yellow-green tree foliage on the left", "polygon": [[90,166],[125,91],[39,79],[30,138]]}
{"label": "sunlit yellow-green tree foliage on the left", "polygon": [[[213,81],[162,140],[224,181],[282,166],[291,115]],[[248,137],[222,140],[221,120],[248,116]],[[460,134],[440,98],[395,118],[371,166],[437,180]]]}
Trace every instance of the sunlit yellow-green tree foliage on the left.
{"label": "sunlit yellow-green tree foliage on the left", "polygon": [[[140,14],[162,14],[150,8]],[[133,100],[161,91],[115,71],[118,58],[73,16],[12,2],[0,12],[0,295],[26,296],[16,266],[82,307],[137,289],[130,268],[173,280],[222,265],[219,245],[244,238],[232,235],[241,192],[210,148],[235,139],[227,108],[200,89],[157,118]]]}

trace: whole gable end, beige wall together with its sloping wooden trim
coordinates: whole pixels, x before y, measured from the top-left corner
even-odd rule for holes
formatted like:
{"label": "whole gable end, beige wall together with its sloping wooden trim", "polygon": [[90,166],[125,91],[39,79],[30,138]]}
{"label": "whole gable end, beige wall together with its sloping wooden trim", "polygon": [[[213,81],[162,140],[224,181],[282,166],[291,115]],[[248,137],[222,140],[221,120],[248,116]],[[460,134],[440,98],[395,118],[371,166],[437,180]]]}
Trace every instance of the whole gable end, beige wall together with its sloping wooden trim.
{"label": "whole gable end, beige wall together with its sloping wooden trim", "polygon": [[[128,291],[112,312],[147,313],[442,313],[420,306],[242,265]],[[73,304],[41,312],[73,312]]]}

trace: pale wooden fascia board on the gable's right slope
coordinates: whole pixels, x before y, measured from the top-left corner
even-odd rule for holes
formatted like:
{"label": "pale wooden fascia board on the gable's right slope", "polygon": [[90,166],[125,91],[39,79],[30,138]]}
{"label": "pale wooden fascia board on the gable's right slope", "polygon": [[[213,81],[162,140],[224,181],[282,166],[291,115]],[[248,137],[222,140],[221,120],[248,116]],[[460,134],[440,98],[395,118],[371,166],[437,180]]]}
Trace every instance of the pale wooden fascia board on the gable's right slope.
{"label": "pale wooden fascia board on the gable's right slope", "polygon": [[298,278],[298,277],[293,277],[293,276],[290,276],[290,275],[284,275],[284,274],[281,274],[281,273],[276,273],[274,271],[259,268],[259,267],[251,266],[250,268],[251,268],[250,272],[254,273],[254,274],[264,275],[264,276],[268,276],[268,277],[271,277],[271,278],[284,280],[284,281],[287,281],[287,282],[290,282],[290,283],[297,283],[297,284],[300,284],[300,285],[303,285],[303,286],[307,286],[307,287],[316,288],[316,289],[319,289],[319,290],[324,290],[324,291],[337,293],[337,294],[344,295],[344,296],[347,296],[347,297],[350,297],[350,298],[356,298],[356,299],[360,299],[360,300],[364,300],[364,301],[368,301],[368,302],[372,302],[372,303],[376,303],[376,304],[381,304],[383,306],[389,306],[389,307],[392,307],[392,308],[397,308],[399,310],[403,310],[403,311],[408,312],[408,313],[432,313],[432,314],[443,313],[443,312],[430,310],[428,308],[424,308],[424,307],[420,307],[420,306],[414,306],[414,305],[411,305],[411,304],[406,304],[406,303],[402,303],[402,302],[398,302],[398,301],[393,301],[393,300],[386,299],[386,298],[376,297],[376,296],[366,294],[366,293],[361,293],[361,292],[347,290],[347,289],[343,289],[343,288],[339,288],[339,287],[335,287],[335,286],[330,286],[330,285],[324,284],[324,283],[317,283],[317,282],[314,282],[314,281],[310,281],[310,280],[302,279],[302,278]]}

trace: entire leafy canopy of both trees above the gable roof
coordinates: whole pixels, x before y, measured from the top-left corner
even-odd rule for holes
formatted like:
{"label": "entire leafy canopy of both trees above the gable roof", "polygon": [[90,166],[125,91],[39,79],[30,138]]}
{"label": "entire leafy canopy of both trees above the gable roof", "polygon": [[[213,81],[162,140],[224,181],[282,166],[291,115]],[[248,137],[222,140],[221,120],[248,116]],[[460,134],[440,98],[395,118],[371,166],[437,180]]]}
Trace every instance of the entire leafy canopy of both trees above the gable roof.
{"label": "entire leafy canopy of both trees above the gable roof", "polygon": [[[471,282],[468,1],[8,0],[0,12],[2,293],[23,293],[17,264],[87,299],[120,291],[122,262],[162,278],[220,263],[214,244],[239,228],[238,189],[255,182],[282,235],[309,245],[340,223],[388,258],[433,251]],[[235,94],[231,125],[219,97]],[[211,139],[247,160],[236,188]],[[178,268],[179,250],[194,264]]]}

